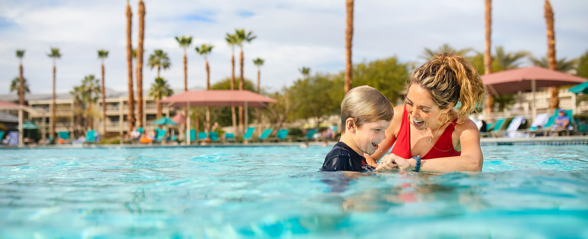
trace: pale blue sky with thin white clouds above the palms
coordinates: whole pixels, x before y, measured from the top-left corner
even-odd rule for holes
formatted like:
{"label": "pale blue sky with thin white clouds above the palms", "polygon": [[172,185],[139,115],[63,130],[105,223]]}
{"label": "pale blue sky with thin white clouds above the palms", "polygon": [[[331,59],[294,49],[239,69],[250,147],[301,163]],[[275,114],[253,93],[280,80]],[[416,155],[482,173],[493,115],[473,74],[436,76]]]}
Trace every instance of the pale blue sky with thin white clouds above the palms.
{"label": "pale blue sky with thin white clouds above the palms", "polygon": [[[257,36],[244,45],[245,78],[256,80],[252,60],[265,59],[261,86],[275,92],[300,78],[302,66],[311,73],[345,70],[345,1],[343,0],[144,0],[145,62],[155,49],[168,53],[172,67],[161,75],[173,89],[183,89],[183,50],[175,36],[193,36],[188,49],[188,87],[205,87],[206,71],[196,45],[214,45],[208,56],[211,84],[230,76],[231,49],[225,33],[244,28]],[[551,1],[555,15],[557,58],[577,58],[588,50],[588,1]],[[137,5],[133,11],[133,48],[137,44]],[[507,52],[547,51],[542,0],[492,2],[492,44]],[[31,93],[51,93],[53,62],[46,53],[59,48],[58,93],[67,93],[86,75],[100,76],[98,49],[106,49],[105,85],[125,91],[126,1],[0,0],[0,94],[18,76],[16,49],[25,49],[24,75]],[[449,43],[457,49],[484,50],[483,0],[355,1],[353,63],[397,56],[424,62],[424,48]],[[239,49],[236,49],[238,54]],[[238,63],[238,55],[237,55]],[[522,65],[529,65],[526,60]],[[133,66],[134,68],[135,66]],[[133,69],[134,71],[134,69]],[[238,66],[236,66],[238,74]],[[134,75],[134,74],[133,74]],[[156,69],[143,67],[143,89]]]}

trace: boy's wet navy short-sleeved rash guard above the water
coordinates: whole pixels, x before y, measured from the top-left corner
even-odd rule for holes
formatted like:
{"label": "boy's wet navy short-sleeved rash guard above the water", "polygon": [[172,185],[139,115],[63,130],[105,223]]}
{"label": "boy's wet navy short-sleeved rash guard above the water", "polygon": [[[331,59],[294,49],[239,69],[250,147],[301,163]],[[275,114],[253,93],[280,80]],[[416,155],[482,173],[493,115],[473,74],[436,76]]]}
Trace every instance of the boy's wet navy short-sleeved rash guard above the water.
{"label": "boy's wet navy short-sleeved rash guard above the water", "polygon": [[365,157],[359,155],[347,144],[337,142],[333,149],[325,157],[325,163],[320,169],[322,171],[365,171],[373,170]]}

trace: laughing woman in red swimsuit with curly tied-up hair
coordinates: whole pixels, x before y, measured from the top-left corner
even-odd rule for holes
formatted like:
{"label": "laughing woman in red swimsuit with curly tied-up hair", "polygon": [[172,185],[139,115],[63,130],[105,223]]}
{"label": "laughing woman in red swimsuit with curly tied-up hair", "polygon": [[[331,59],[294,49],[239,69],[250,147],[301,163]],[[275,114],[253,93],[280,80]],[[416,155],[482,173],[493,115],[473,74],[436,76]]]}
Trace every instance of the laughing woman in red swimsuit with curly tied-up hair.
{"label": "laughing woman in red swimsuit with curly tied-up hair", "polygon": [[394,145],[376,170],[481,171],[480,132],[468,118],[487,96],[476,69],[462,56],[436,55],[415,70],[407,89],[368,163],[375,166]]}

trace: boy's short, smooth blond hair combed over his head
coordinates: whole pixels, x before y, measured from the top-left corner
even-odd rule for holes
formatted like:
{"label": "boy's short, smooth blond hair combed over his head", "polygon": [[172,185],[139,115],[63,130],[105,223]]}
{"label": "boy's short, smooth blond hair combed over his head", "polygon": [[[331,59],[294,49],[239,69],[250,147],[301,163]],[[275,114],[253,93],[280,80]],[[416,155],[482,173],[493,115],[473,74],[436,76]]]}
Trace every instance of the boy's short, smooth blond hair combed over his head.
{"label": "boy's short, smooth blond hair combed over his head", "polygon": [[390,100],[371,86],[358,86],[349,90],[341,102],[342,132],[345,132],[345,121],[348,118],[355,119],[355,124],[361,127],[364,123],[390,121],[393,116],[394,108]]}

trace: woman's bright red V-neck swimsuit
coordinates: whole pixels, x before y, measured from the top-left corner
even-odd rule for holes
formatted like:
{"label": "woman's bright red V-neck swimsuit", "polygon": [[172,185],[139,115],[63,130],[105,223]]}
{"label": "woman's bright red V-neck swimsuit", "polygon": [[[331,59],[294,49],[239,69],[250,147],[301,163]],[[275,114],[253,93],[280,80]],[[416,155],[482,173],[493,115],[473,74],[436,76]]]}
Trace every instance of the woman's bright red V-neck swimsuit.
{"label": "woman's bright red V-neck swimsuit", "polygon": [[[435,146],[432,147],[425,156],[421,156],[420,159],[436,159],[462,155],[462,152],[457,152],[453,149],[453,142],[451,139],[451,134],[453,133],[453,129],[455,129],[456,122],[457,119],[453,120],[453,122],[443,130],[441,137],[435,142]],[[396,154],[405,159],[413,157],[412,153],[410,153],[410,117],[406,111],[406,106],[402,113],[402,123],[400,123],[400,130],[396,136],[396,143],[390,153]]]}

